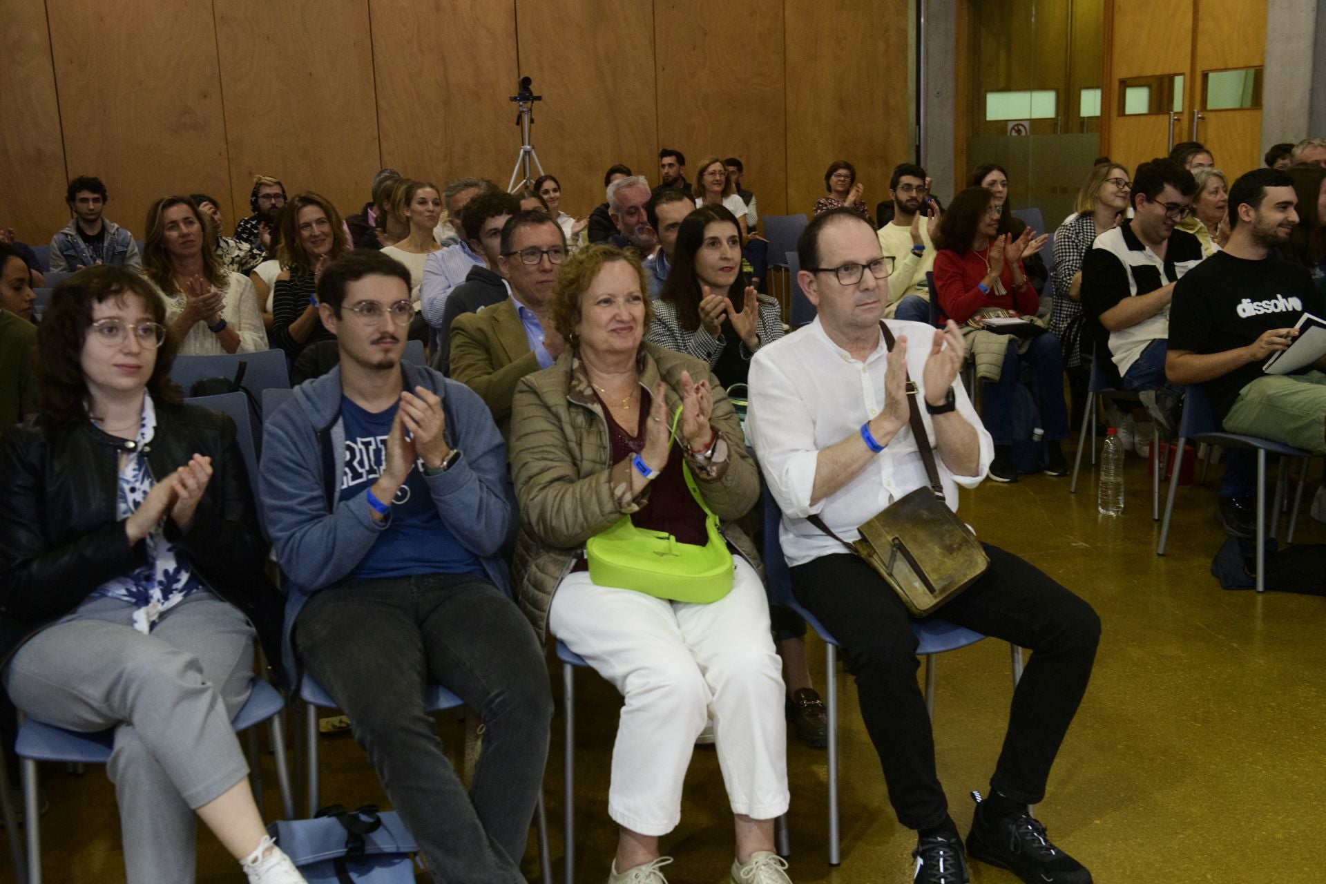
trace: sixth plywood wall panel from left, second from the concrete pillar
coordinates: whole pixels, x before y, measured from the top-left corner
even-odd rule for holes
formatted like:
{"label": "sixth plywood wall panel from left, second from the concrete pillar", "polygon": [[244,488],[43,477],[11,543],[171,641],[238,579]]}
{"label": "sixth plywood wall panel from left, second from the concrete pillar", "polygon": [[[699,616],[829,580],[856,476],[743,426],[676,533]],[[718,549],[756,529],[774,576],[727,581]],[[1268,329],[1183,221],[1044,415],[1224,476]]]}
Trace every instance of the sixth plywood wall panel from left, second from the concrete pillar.
{"label": "sixth plywood wall panel from left, second from the concrete pillar", "polygon": [[[705,156],[737,156],[760,212],[786,212],[786,89],[782,8],[732,0],[655,0],[659,143],[686,154],[695,182]],[[733,40],[732,21],[743,23]],[[752,69],[758,68],[758,76]],[[651,171],[656,179],[656,171]]]}

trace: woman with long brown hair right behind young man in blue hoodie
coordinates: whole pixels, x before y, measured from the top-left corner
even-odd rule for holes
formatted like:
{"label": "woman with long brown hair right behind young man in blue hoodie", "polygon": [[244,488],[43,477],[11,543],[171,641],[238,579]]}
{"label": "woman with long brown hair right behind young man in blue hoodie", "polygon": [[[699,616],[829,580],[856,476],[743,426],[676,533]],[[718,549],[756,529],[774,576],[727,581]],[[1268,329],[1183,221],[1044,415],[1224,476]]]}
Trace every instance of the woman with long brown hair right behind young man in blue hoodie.
{"label": "woman with long brown hair right behind young man in blue hoodie", "polygon": [[346,250],[341,216],[321,193],[296,193],[281,212],[281,241],[276,256],[281,272],[272,285],[272,343],[289,359],[310,343],[328,341],[317,284],[322,270]]}

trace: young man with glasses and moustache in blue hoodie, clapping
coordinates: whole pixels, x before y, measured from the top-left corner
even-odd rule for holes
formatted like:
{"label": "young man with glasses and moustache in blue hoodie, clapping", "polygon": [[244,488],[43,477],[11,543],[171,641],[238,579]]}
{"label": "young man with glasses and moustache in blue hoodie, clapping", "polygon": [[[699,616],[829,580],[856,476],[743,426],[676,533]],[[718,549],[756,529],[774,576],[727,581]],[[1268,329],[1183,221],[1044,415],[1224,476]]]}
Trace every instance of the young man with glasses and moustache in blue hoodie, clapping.
{"label": "young man with glasses and moustache in blue hoodie, clapping", "polygon": [[[522,884],[553,704],[505,591],[516,505],[501,436],[479,396],[400,362],[412,309],[398,262],[345,254],[318,301],[339,366],[296,387],[263,445],[288,664],[298,655],[350,717],[436,880]],[[424,710],[430,683],[483,722],[468,794]]]}

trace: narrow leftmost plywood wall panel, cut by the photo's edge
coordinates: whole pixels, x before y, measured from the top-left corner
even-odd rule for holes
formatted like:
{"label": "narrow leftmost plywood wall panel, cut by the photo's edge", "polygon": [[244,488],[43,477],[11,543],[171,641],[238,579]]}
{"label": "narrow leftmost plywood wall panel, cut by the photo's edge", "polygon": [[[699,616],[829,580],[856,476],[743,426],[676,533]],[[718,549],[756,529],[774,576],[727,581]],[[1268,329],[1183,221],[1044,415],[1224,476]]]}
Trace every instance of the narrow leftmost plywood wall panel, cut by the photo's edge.
{"label": "narrow leftmost plywood wall panel, cut by the photo's edge", "polygon": [[7,0],[4,11],[0,227],[12,227],[23,243],[45,245],[69,219],[46,7],[42,0]]}

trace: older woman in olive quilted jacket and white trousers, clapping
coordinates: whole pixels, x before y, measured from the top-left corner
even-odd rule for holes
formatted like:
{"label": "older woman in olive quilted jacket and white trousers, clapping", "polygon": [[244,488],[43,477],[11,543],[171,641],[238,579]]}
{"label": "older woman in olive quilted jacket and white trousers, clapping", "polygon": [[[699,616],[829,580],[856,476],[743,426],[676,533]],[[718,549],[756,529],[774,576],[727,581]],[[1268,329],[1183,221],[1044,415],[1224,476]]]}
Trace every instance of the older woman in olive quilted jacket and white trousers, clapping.
{"label": "older woman in olive quilted jacket and white trousers, clapping", "polygon": [[[758,559],[736,525],[760,477],[704,362],[643,342],[655,304],[644,288],[635,253],[606,245],[577,252],[557,278],[552,321],[573,354],[524,378],[512,408],[516,596],[540,637],[552,632],[626,698],[607,795],[619,831],[610,884],[666,884],[672,860],[659,838],[680,820],[711,709],[735,816],[731,880],[790,884],[773,852],[773,822],[788,808],[784,687]],[[594,583],[585,543],[623,516],[705,543],[683,463],[737,553],[731,591],[696,604]]]}

